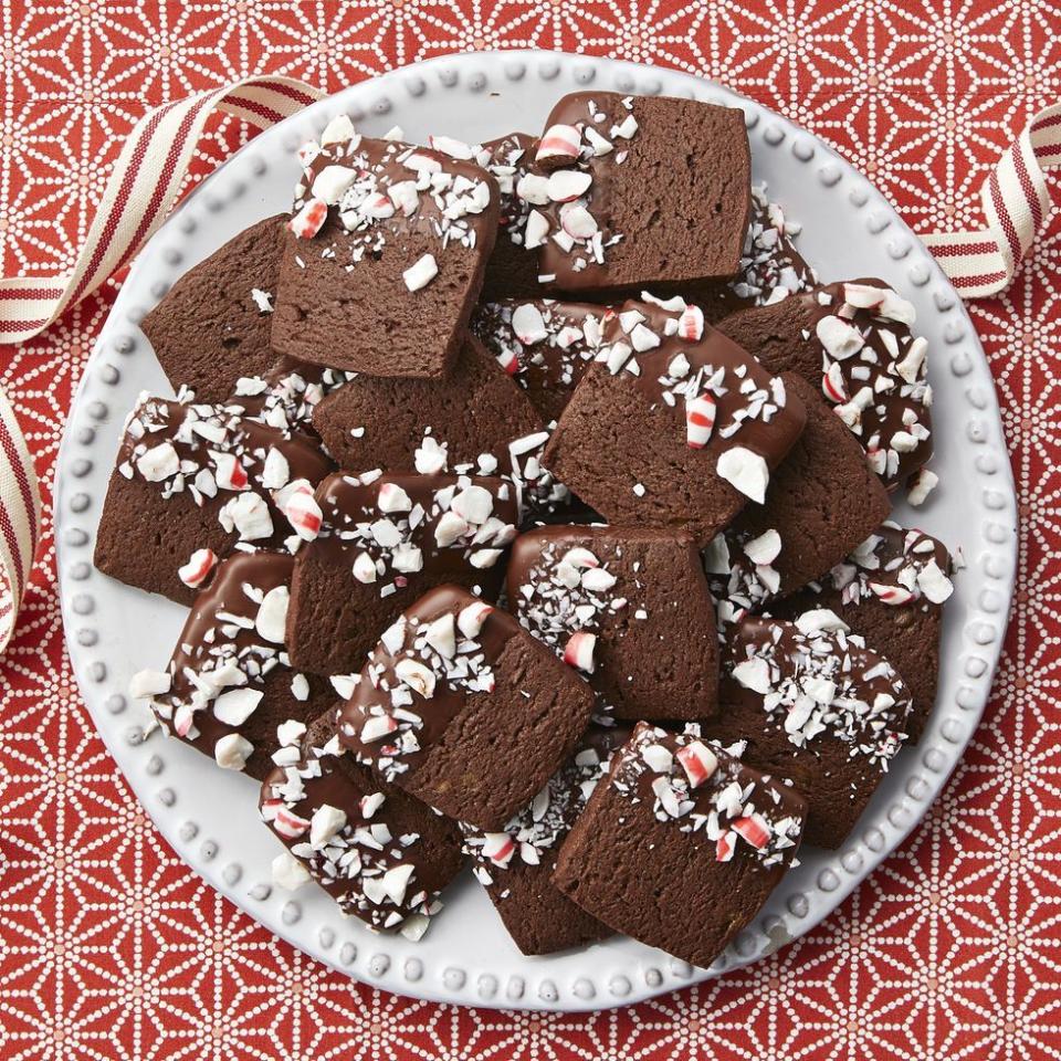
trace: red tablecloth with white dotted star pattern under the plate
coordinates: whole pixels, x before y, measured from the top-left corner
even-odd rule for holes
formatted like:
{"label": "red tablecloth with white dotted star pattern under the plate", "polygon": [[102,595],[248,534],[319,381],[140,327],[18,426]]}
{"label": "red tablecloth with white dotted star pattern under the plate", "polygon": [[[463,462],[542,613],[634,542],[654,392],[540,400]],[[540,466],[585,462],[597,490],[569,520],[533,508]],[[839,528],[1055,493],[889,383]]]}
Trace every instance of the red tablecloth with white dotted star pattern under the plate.
{"label": "red tablecloth with white dotted star pattern under the plate", "polygon": [[[534,45],[715,77],[836,145],[920,231],[976,228],[989,165],[1061,97],[1058,0],[66,0],[0,8],[0,272],[73,264],[148,106],[248,73],[329,91]],[[245,136],[219,122],[199,171]],[[45,491],[113,290],[0,347]],[[93,731],[50,524],[0,661],[4,1059],[1061,1057],[1061,224],[973,307],[1022,519],[995,695],[928,818],[829,921],[718,983],[586,1016],[412,1001],[274,939],[174,855]]]}

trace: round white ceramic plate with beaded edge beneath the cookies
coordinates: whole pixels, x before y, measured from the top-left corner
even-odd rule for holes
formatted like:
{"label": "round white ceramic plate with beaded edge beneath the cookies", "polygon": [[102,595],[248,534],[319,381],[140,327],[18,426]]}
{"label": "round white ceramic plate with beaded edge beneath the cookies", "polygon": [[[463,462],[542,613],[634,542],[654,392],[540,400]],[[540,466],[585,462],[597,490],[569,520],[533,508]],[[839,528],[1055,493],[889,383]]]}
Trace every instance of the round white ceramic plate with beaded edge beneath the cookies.
{"label": "round white ceramic plate with beaded edge beneath the cookies", "polygon": [[[803,222],[800,249],[822,279],[879,275],[914,303],[932,351],[934,468],[942,483],[916,515],[902,505],[895,515],[960,549],[968,564],[946,613],[938,701],[920,745],[899,757],[843,849],[805,849],[800,868],[706,970],[621,937],[524,957],[466,873],[418,944],[345,920],[315,886],[294,894],[271,886],[270,862],[280,849],[258,821],[254,782],[160,733],[144,739],[146,708],[126,702],[133,673],[164,666],[185,610],[112,581],[91,564],[123,419],[140,390],[170,392],[137,323],[185,270],[288,207],[302,141],[340,111],[369,135],[395,124],[410,139],[430,132],[465,140],[534,132],[560,95],[585,87],[740,107],[755,178],[768,181],[786,212]],[[139,255],[85,368],[60,453],[55,522],[63,616],[88,708],[148,813],[189,865],[263,925],[359,979],[429,999],[558,1010],[634,1001],[717,976],[826,917],[918,821],[962,755],[987,698],[1016,564],[1013,485],[987,361],[950,284],[892,207],[815,137],[716,85],[543,52],[443,59],[356,85],[262,134],[204,181]]]}

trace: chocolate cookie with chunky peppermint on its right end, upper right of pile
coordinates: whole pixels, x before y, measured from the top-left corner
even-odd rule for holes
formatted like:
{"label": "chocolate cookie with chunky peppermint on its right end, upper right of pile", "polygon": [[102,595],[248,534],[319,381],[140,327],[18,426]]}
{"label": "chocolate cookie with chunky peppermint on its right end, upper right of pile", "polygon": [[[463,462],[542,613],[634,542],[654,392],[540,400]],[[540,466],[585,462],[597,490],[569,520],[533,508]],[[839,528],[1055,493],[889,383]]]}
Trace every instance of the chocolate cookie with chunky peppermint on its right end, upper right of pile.
{"label": "chocolate cookie with chunky peppermint on its right end, upper right of pile", "polygon": [[771,372],[820,388],[894,489],[932,456],[928,343],[914,307],[880,280],[828,284],[743,309],[718,328]]}

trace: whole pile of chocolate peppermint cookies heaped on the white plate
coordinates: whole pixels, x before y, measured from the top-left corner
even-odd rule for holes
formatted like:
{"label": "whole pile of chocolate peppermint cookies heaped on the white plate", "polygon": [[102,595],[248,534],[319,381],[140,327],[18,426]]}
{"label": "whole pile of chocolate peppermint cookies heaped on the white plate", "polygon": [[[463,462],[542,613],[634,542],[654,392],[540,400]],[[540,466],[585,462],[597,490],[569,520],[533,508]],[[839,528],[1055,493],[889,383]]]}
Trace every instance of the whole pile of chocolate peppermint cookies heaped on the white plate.
{"label": "whole pile of chocolate peppermint cookies heaped on the white plate", "polygon": [[374,928],[471,863],[527,954],[710,965],[932,707],[912,306],[819,284],[738,111],[339,116],[300,159],[144,321],[176,398],[126,421],[96,564],[191,610],[134,694]]}

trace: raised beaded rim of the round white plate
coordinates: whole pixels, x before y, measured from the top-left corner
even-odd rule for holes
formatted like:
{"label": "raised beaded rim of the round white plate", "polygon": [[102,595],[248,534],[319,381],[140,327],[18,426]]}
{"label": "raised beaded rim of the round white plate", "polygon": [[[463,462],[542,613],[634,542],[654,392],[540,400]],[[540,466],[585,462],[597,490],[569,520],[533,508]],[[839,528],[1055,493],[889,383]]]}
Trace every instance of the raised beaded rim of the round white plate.
{"label": "raised beaded rim of the round white plate", "polygon": [[[132,722],[135,708],[127,704],[118,680],[127,670],[116,638],[123,624],[112,599],[137,591],[116,590],[116,584],[107,585],[109,580],[91,564],[106,477],[129,405],[115,401],[128,389],[128,377],[136,375],[129,366],[137,354],[146,350],[154,360],[136,325],[188,267],[183,245],[201,232],[203,222],[214,222],[230,209],[255,214],[244,224],[267,216],[253,201],[254,182],[340,109],[356,122],[382,122],[386,128],[401,120],[403,108],[423,107],[435,96],[482,101],[494,96],[495,88],[526,92],[536,83],[546,86],[550,97],[595,86],[690,95],[742,108],[756,159],[789,153],[786,165],[795,159],[817,176],[815,195],[838,206],[841,200],[836,197],[842,196],[843,210],[862,219],[859,245],[869,249],[876,265],[886,266],[885,279],[905,288],[918,305],[918,330],[936,339],[931,340],[934,380],[938,384],[948,374],[952,391],[960,392],[960,401],[955,393],[947,395],[948,407],[960,406],[962,420],[948,427],[937,451],[945,451],[944,463],[957,465],[960,458],[967,464],[962,466],[973,480],[965,487],[976,491],[967,504],[980,518],[968,530],[975,555],[971,548],[966,550],[968,568],[948,609],[947,644],[957,654],[948,656],[942,671],[941,697],[928,729],[921,744],[904,750],[844,847],[816,853],[812,866],[788,874],[754,924],[706,970],[629,939],[557,957],[504,955],[460,962],[448,956],[442,942],[432,943],[434,927],[412,945],[368,933],[342,918],[334,904],[319,897],[307,901],[305,890],[290,897],[279,894],[269,882],[269,866],[248,865],[239,854],[239,818],[225,833],[183,812],[189,781],[199,779],[196,758],[204,774],[219,773],[213,764],[177,742],[145,739],[143,725]],[[213,246],[225,238],[219,234]],[[952,455],[956,450],[960,453]],[[950,283],[884,198],[815,136],[712,82],[635,63],[538,51],[442,56],[363,82],[261,134],[203,180],[138,256],[85,366],[56,463],[54,513],[63,622],[74,673],[119,768],[178,855],[255,921],[349,976],[434,1001],[513,1009],[591,1010],[642,1000],[770,954],[828,916],[921,820],[958,763],[987,701],[1017,560],[1016,494],[986,356]]]}

